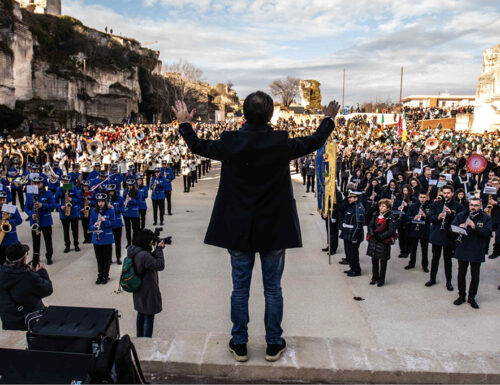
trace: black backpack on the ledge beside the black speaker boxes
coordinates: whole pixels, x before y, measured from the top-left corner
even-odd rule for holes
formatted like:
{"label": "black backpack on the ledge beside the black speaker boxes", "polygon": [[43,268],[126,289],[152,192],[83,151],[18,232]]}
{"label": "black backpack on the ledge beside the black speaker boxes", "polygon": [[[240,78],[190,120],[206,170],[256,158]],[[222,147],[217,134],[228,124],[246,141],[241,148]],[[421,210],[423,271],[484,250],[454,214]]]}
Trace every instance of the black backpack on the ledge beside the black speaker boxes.
{"label": "black backpack on the ledge beside the black speaker boxes", "polygon": [[93,384],[149,384],[127,334],[119,340],[104,339],[102,344],[90,370]]}

